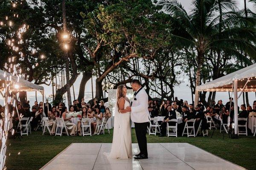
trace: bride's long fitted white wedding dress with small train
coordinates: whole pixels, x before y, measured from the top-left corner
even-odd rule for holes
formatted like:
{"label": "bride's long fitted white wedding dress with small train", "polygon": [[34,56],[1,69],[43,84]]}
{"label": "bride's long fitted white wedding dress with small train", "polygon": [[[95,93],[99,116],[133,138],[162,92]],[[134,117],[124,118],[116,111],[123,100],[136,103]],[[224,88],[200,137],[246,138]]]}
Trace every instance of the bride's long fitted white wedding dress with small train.
{"label": "bride's long fitted white wedding dress with small train", "polygon": [[[127,106],[130,106],[130,103],[125,100],[124,108]],[[110,159],[132,158],[130,114],[119,113],[117,106],[115,107],[113,142],[111,153],[108,155]]]}

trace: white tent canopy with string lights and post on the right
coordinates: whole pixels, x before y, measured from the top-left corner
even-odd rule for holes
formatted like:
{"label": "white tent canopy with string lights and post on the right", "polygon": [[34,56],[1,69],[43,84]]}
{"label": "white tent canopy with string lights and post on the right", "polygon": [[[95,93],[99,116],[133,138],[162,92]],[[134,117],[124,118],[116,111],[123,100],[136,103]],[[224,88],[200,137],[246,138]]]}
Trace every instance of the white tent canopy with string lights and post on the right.
{"label": "white tent canopy with string lights and post on the right", "polygon": [[[235,71],[226,76],[207,82],[204,85],[199,85],[195,88],[195,94],[198,91],[231,91],[234,92],[234,122],[235,122],[235,134],[237,134],[238,128],[238,91],[256,92],[256,64],[250,65],[239,71]],[[195,105],[198,102],[198,95],[195,95]]]}

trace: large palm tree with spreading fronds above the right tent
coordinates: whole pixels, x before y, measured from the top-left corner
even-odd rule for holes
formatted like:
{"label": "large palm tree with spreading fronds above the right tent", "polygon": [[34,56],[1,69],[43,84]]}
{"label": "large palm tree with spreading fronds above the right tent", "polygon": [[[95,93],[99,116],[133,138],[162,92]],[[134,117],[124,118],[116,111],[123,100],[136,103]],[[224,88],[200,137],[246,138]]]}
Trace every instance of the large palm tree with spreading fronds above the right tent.
{"label": "large palm tree with spreading fronds above the right tent", "polygon": [[[176,45],[197,51],[196,86],[200,85],[204,55],[208,51],[240,54],[242,49],[250,57],[256,56],[256,21],[243,17],[233,0],[193,0],[191,14],[177,0],[158,0],[157,5],[163,6],[162,11],[170,14],[182,30],[182,34],[173,35]],[[197,103],[198,93],[195,98]]]}

